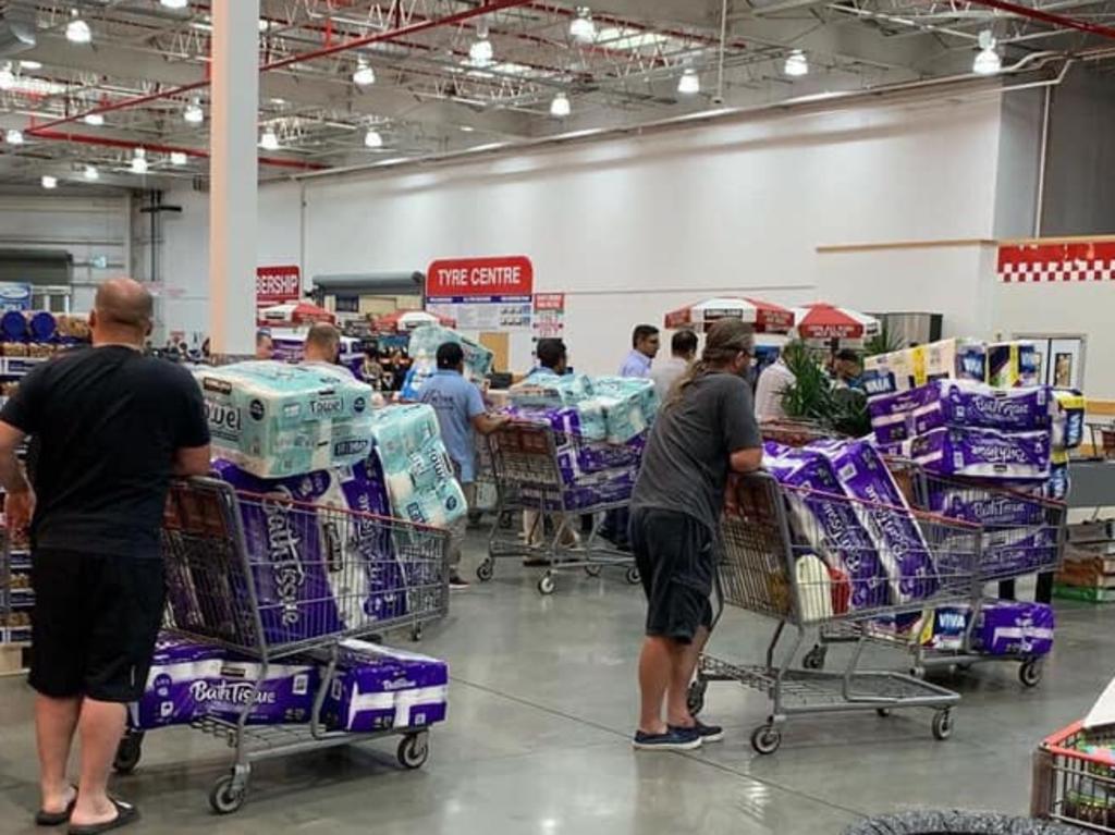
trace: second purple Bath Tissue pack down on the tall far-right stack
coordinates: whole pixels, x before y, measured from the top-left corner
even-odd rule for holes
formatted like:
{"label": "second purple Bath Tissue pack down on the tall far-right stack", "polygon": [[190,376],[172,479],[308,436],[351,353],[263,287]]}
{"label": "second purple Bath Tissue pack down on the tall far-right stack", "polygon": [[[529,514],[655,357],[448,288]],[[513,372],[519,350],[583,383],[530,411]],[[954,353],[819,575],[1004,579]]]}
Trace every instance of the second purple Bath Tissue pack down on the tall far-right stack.
{"label": "second purple Bath Tissue pack down on the tall far-right stack", "polygon": [[1049,433],[1001,433],[951,426],[914,438],[914,460],[931,473],[976,478],[1049,477]]}

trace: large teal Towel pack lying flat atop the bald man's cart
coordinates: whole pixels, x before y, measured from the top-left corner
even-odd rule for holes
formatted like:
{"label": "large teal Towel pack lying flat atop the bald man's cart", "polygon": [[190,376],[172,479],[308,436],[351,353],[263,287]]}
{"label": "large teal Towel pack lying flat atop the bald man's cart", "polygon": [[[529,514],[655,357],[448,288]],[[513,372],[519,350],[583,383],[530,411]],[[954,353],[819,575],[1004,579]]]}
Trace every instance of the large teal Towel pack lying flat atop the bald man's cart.
{"label": "large teal Towel pack lying flat atop the bald man's cart", "polygon": [[371,387],[342,368],[239,362],[195,371],[213,447],[261,478],[355,464],[371,452]]}

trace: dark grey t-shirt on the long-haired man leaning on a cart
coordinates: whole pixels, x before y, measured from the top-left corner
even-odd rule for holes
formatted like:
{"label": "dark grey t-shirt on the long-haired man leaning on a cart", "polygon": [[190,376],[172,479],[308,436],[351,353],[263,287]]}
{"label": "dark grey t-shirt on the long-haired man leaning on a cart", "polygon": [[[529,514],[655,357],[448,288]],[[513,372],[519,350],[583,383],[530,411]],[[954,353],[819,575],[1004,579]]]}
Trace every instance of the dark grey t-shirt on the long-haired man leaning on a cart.
{"label": "dark grey t-shirt on the long-haired man leaning on a cart", "polygon": [[763,445],[752,390],[741,377],[698,377],[663,407],[650,433],[631,506],[678,511],[715,531],[724,506],[728,458]]}

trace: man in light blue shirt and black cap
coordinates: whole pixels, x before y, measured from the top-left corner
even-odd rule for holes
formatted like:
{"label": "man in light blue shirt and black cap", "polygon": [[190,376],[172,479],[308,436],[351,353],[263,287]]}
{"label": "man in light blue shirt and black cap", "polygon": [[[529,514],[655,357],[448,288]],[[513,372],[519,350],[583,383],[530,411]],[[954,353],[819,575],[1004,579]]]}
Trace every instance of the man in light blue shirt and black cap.
{"label": "man in light blue shirt and black cap", "polygon": [[[465,352],[456,342],[446,342],[437,349],[437,372],[421,389],[421,401],[434,407],[442,427],[445,444],[457,480],[465,492],[465,501],[476,501],[476,440],[473,431],[491,435],[507,423],[506,417],[493,417],[484,408],[484,398],[476,386],[465,379]],[[468,514],[449,528],[449,588],[467,589],[460,576],[460,546],[468,527]]]}

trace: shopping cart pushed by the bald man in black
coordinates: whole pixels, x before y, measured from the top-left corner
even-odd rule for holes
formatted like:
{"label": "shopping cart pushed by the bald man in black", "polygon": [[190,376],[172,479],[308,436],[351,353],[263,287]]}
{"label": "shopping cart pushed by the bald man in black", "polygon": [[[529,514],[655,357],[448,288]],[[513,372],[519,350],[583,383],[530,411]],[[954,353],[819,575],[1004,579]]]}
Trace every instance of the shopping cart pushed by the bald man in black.
{"label": "shopping cart pushed by the bald man in black", "polygon": [[[210,793],[215,812],[241,807],[252,765],[261,759],[401,736],[399,763],[405,768],[425,764],[428,730],[334,731],[322,718],[322,705],[337,674],[342,640],[398,629],[418,638],[424,623],[445,616],[447,544],[444,531],[236,493],[214,479],[172,487],[163,522],[165,631],[259,662],[236,720],[205,717],[193,724],[235,749],[231,773]],[[309,722],[250,726],[269,664],[293,657],[321,670]],[[143,738],[142,730],[125,736],[117,771],[136,767]]]}

